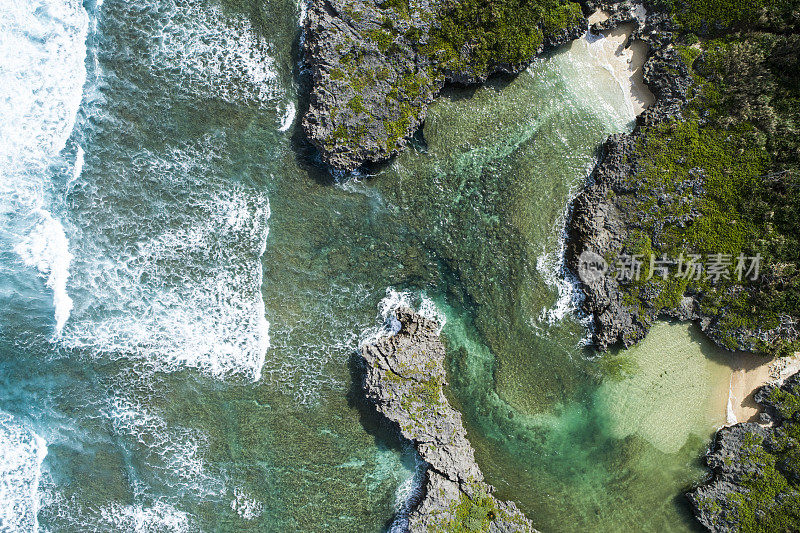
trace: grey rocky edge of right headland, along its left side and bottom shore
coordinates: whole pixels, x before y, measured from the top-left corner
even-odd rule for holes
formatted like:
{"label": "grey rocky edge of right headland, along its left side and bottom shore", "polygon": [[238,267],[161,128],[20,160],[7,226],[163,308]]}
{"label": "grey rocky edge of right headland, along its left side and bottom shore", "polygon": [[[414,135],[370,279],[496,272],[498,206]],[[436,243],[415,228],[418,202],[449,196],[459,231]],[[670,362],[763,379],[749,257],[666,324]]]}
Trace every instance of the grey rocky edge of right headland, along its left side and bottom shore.
{"label": "grey rocky edge of right headland, along its left side and bottom shore", "polygon": [[[633,38],[650,46],[644,81],[656,101],[638,117],[632,133],[612,135],[606,141],[586,187],[573,201],[571,218],[567,222],[566,265],[579,279],[582,257],[603,258],[610,266],[612,258],[636,254],[635,246],[639,244],[636,241],[642,234],[650,241],[649,246],[657,250],[661,244],[660,233],[670,226],[690,226],[700,216],[694,207],[688,211],[683,209],[689,203],[687,198],[699,198],[707,192],[700,169],[694,174],[689,172],[682,183],[671,184],[671,189],[666,186],[654,189],[641,179],[644,130],[673,119],[681,121],[683,109],[692,98],[695,82],[675,46],[674,22],[659,12],[641,16],[642,12],[635,7],[637,4],[632,2],[613,6],[597,2],[595,5],[613,15],[595,24],[594,29],[633,23],[637,26]],[[652,205],[657,207],[649,207]],[[648,232],[643,218],[655,220],[655,231]],[[626,283],[628,287],[623,286]],[[732,351],[758,352],[779,342],[790,343],[800,338],[797,321],[788,315],[782,315],[776,324],[769,326],[762,323],[731,326],[723,320],[727,312],[724,307],[709,309],[701,305],[705,296],[702,290],[667,294],[666,289],[653,285],[639,290],[631,298],[630,287],[629,282],[621,282],[611,275],[581,279],[582,311],[592,317],[593,343],[600,350],[638,343],[657,319],[665,317],[697,322],[712,341]],[[738,286],[728,292],[749,290]]]}

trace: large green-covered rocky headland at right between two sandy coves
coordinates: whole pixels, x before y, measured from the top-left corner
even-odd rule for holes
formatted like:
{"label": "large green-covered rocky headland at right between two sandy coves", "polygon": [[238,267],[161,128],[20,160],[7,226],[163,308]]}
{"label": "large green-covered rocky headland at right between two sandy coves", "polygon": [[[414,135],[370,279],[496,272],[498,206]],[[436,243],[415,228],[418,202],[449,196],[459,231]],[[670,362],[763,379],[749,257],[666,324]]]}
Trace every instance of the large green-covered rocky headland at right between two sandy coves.
{"label": "large green-covered rocky headland at right between two sandy coves", "polygon": [[[706,13],[698,9],[698,16]],[[609,264],[622,256],[645,262],[638,280],[607,276],[583,285],[584,310],[598,326],[595,343],[601,349],[631,346],[668,315],[698,320],[730,350],[789,351],[800,336],[800,211],[791,192],[800,179],[800,40],[782,24],[774,33],[762,27],[715,37],[735,26],[731,19],[703,26],[713,35],[690,46],[697,37],[686,33],[694,26],[681,22],[687,12],[673,15],[668,61],[649,69],[656,92],[668,89],[673,103],[664,107],[662,89],[656,109],[666,112],[645,115],[633,135],[609,140],[594,179],[574,204],[571,268],[577,272],[586,251]],[[661,71],[658,79],[653,67]],[[722,254],[733,263],[760,257],[760,277],[712,279],[703,272],[687,279],[675,275],[675,265],[669,279],[652,275],[651,256],[677,260],[681,254]]]}

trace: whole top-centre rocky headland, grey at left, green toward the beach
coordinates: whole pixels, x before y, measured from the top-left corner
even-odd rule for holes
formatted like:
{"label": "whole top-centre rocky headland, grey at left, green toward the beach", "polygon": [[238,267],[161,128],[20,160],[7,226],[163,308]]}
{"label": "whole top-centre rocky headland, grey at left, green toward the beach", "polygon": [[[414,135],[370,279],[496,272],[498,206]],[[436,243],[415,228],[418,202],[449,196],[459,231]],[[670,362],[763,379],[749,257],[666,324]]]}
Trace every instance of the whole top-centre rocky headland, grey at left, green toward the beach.
{"label": "whole top-centre rocky headland, grey at left, green toward the beach", "polygon": [[521,72],[585,31],[577,4],[515,1],[312,0],[303,128],[322,159],[340,170],[386,160],[404,149],[445,83]]}

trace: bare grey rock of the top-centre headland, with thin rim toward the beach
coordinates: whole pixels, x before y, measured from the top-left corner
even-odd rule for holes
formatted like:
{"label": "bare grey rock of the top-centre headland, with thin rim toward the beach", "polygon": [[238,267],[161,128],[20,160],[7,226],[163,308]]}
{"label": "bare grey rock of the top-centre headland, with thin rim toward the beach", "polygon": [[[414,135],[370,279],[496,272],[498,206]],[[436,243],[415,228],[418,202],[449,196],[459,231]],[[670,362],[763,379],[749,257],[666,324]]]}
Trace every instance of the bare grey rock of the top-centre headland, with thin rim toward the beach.
{"label": "bare grey rock of the top-centre headland, with thin rim toward the beach", "polygon": [[[313,80],[303,128],[324,162],[353,170],[399,153],[447,82],[480,83],[524,70],[537,53],[584,33],[585,19],[542,38],[517,62],[489,58],[465,43],[456,57],[434,39],[448,0],[311,0],[304,27]],[[480,3],[476,4],[482,5]],[[438,47],[438,48],[437,48]]]}

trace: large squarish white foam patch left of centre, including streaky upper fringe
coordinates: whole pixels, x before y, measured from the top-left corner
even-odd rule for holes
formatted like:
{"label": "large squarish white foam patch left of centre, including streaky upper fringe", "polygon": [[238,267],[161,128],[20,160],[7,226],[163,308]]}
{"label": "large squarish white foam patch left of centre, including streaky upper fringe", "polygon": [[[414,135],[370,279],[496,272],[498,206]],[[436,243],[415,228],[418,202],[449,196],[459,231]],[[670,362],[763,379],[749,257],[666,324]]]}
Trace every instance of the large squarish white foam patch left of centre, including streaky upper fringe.
{"label": "large squarish white foam patch left of centre, including streaky upper fringe", "polygon": [[[156,209],[119,215],[133,217],[126,222],[136,233],[122,236],[131,245],[110,245],[104,235],[118,239],[119,222],[103,222],[103,198],[92,206],[74,273],[86,291],[62,335],[64,345],[137,358],[158,371],[192,367],[220,378],[260,379],[270,346],[261,293],[269,201],[215,184],[208,167],[215,154],[213,141],[148,152],[115,177],[131,187],[149,183],[181,202],[159,209],[160,197],[131,190],[130,197],[144,195],[141,201]],[[198,182],[204,176],[208,181]],[[97,195],[112,193],[119,191]]]}

